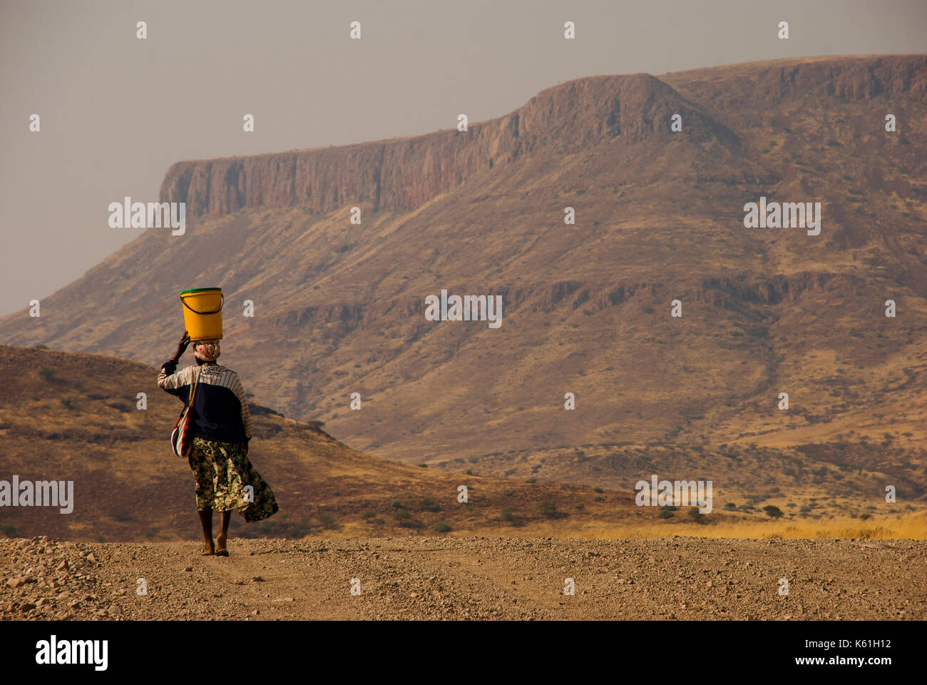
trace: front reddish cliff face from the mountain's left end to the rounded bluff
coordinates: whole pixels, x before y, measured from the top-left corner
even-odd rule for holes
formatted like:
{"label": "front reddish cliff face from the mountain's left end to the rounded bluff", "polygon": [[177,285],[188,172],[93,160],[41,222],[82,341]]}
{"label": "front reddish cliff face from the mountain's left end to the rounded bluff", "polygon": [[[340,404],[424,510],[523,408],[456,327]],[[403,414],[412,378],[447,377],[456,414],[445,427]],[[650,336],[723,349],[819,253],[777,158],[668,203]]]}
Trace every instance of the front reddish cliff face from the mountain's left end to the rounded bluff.
{"label": "front reddish cliff face from the mountain's left end to the rounded bluff", "polygon": [[160,198],[185,201],[188,218],[290,205],[319,213],[362,203],[375,211],[411,210],[540,146],[577,150],[618,136],[629,143],[666,139],[671,113],[679,113],[695,137],[735,143],[723,126],[653,76],[600,76],[544,90],[511,114],[471,123],[465,132],[178,162],[165,176]]}

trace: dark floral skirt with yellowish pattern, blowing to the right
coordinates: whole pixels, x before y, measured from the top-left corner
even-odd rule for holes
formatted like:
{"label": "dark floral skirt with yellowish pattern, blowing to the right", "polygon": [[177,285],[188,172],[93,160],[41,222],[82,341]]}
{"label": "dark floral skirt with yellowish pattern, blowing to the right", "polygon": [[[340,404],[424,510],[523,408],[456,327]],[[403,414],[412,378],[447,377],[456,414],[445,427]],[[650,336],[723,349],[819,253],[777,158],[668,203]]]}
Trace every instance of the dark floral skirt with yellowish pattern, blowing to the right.
{"label": "dark floral skirt with yellowish pattern, blowing to the right", "polygon": [[244,446],[195,437],[189,462],[197,479],[197,511],[237,509],[245,521],[254,523],[280,509]]}

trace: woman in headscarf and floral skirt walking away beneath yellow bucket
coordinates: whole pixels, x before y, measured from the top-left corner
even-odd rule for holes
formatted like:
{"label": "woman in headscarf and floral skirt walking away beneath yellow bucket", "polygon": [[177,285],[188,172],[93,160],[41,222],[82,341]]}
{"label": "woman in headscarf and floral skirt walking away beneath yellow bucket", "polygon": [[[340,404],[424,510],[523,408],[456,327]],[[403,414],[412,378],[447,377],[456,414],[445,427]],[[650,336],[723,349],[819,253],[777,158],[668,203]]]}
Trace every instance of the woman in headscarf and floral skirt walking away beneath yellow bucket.
{"label": "woman in headscarf and floral skirt walking away beneath yellow bucket", "polygon": [[[190,389],[197,383],[190,411],[190,469],[197,479],[197,511],[206,546],[203,555],[229,555],[226,549],[232,510],[241,511],[245,521],[253,523],[272,516],[277,507],[273,490],[260,477],[248,459],[251,439],[251,414],[245,390],[238,375],[216,364],[219,341],[193,343],[197,367],[177,370],[177,362],[190,344],[190,336],[177,344],[177,352],[164,362],[158,385],[170,394],[190,401]],[[251,486],[251,491],[246,489]],[[222,512],[222,533],[212,541],[212,511]]]}

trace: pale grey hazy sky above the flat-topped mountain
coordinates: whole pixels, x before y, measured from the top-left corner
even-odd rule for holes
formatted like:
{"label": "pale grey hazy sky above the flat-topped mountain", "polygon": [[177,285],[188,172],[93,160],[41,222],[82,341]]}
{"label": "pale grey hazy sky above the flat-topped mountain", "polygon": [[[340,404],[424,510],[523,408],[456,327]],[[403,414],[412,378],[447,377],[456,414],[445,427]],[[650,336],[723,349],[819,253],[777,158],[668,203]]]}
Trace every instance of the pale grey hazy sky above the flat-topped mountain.
{"label": "pale grey hazy sky above the flat-topped mountain", "polygon": [[923,52],[925,0],[0,0],[0,315],[135,238],[109,202],[180,160],[428,133],[579,76]]}

